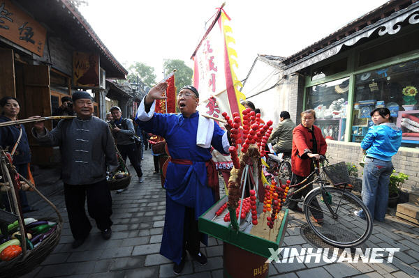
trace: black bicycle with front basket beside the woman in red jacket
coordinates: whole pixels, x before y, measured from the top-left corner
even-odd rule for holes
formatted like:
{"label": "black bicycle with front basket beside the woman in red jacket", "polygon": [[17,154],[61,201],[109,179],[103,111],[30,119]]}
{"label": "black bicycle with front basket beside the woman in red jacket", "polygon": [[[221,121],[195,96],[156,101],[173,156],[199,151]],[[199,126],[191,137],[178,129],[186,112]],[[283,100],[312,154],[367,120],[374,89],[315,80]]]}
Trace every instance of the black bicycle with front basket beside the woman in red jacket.
{"label": "black bicycle with front basket beside the woman in red jacket", "polygon": [[[311,230],[324,242],[335,247],[351,248],[361,245],[372,233],[371,213],[358,196],[347,191],[349,175],[345,162],[324,166],[323,161],[328,162],[326,157],[321,156],[321,167],[320,163],[314,163],[314,171],[307,178],[301,183],[289,185],[290,189],[297,188],[314,178],[294,192],[290,190],[286,199],[300,202],[301,200],[292,199],[292,196],[310,184],[318,185],[307,193],[302,203],[303,213]],[[327,186],[329,182],[326,176],[335,186]],[[343,188],[336,187],[342,185]],[[365,219],[354,214],[361,209],[365,212]]]}

